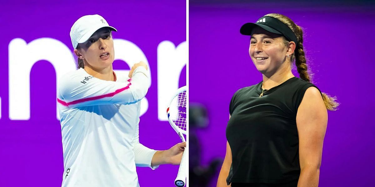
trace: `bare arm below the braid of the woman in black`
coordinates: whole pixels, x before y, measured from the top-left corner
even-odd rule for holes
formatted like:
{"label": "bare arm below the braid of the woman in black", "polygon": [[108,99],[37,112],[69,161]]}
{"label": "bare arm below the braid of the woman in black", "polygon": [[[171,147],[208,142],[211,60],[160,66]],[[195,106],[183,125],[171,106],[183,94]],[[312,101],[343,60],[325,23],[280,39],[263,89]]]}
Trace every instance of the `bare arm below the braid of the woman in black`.
{"label": "bare arm below the braid of the woman in black", "polygon": [[318,187],[328,114],[319,90],[310,87],[297,111],[301,174],[298,187]]}

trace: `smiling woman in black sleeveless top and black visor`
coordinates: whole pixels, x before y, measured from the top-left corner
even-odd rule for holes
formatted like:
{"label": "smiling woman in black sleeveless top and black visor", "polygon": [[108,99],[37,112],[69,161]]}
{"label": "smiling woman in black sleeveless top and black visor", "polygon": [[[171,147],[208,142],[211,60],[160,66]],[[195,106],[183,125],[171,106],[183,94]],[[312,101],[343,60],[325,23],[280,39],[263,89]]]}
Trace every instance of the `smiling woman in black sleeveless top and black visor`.
{"label": "smiling woman in black sleeveless top and black visor", "polygon": [[327,109],[338,103],[310,82],[302,29],[272,13],[240,33],[251,36],[249,55],[263,81],[233,95],[217,187],[317,187]]}

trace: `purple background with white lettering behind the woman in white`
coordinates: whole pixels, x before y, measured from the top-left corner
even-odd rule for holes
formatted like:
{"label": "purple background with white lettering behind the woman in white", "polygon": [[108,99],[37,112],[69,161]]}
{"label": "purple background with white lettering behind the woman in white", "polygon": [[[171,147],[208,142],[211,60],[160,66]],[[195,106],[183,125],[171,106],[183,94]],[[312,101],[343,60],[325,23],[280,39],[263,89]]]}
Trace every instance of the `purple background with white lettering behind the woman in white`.
{"label": "purple background with white lettering behind the woman in white", "polygon": [[[14,38],[26,42],[50,37],[72,50],[69,31],[83,15],[102,15],[117,28],[115,39],[135,43],[151,67],[148,110],[141,117],[140,141],[147,147],[165,150],[180,142],[168,122],[157,118],[157,46],[164,40],[174,45],[186,41],[185,1],[7,1],[1,3],[0,22],[0,186],[61,186],[63,152],[61,126],[56,119],[56,75],[48,61],[37,62],[30,74],[30,120],[9,120],[8,45]],[[40,49],[43,50],[43,49]],[[72,50],[73,51],[73,50]],[[129,70],[121,61],[115,69]],[[186,67],[180,86],[186,85]],[[174,186],[178,166],[163,165],[155,171],[137,168],[139,183]],[[126,177],[126,176],[124,176]],[[159,186],[159,185],[156,185]]]}

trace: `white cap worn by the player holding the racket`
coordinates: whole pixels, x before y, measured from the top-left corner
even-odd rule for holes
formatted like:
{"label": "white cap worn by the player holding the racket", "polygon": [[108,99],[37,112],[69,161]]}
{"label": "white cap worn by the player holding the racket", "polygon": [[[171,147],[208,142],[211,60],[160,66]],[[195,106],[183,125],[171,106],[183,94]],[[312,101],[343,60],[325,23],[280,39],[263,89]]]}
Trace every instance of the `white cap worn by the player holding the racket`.
{"label": "white cap worn by the player holding the racket", "polygon": [[70,35],[73,48],[76,49],[78,43],[86,42],[95,31],[103,27],[108,27],[110,30],[117,31],[115,28],[108,25],[107,21],[98,14],[82,16],[71,28]]}

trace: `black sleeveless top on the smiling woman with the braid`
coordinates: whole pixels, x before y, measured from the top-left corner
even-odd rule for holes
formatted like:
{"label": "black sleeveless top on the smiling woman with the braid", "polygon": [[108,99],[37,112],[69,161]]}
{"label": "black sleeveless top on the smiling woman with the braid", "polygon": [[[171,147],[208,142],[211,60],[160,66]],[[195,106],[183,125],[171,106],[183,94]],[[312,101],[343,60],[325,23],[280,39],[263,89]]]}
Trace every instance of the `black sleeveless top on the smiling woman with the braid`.
{"label": "black sleeveless top on the smiling woman with the braid", "polygon": [[317,87],[292,77],[259,97],[262,82],[239,89],[230,102],[228,185],[279,184],[298,180],[300,175],[297,109],[306,90]]}

